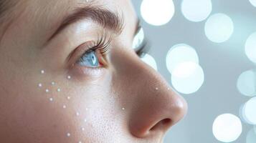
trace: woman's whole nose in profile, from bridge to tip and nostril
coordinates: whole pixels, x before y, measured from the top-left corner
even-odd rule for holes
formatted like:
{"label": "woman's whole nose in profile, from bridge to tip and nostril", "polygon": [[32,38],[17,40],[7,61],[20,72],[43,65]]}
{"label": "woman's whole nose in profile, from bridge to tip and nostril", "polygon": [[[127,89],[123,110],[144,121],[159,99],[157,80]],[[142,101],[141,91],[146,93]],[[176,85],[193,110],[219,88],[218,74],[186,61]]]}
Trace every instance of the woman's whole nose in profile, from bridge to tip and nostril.
{"label": "woman's whole nose in profile, from bridge to tip and nostril", "polygon": [[128,103],[125,105],[129,114],[128,128],[133,136],[145,138],[164,134],[184,117],[186,101],[157,71],[136,54],[119,52],[115,58],[118,70],[115,79],[124,88],[121,94],[123,104]]}

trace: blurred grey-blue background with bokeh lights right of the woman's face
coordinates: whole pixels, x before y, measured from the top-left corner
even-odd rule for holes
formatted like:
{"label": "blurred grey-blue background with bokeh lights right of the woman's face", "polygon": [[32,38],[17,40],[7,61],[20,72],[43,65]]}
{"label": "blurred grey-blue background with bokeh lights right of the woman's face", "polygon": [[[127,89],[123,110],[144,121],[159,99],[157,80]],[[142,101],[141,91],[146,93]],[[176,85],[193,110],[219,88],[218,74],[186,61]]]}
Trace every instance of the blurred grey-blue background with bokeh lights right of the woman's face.
{"label": "blurred grey-blue background with bokeh lights right of the woman's face", "polygon": [[164,143],[256,143],[256,0],[133,0],[143,61],[188,102]]}

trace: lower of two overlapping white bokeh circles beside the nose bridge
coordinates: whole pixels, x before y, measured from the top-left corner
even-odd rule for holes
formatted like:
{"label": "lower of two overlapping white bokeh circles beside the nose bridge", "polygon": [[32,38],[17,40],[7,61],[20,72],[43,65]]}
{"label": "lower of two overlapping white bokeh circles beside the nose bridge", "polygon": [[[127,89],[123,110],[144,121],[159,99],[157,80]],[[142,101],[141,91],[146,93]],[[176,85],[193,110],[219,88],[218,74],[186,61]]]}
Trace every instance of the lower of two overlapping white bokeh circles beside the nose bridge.
{"label": "lower of two overlapping white bokeh circles beside the nose bridge", "polygon": [[178,92],[192,94],[204,83],[204,71],[199,64],[188,61],[176,66],[171,74],[171,83]]}

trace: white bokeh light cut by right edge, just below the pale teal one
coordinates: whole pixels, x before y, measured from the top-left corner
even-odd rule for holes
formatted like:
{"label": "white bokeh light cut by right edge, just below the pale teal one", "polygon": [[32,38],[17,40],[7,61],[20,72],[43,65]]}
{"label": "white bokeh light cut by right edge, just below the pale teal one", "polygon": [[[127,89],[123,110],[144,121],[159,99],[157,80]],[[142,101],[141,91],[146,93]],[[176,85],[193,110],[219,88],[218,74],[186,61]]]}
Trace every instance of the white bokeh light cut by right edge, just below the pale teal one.
{"label": "white bokeh light cut by right edge, just below the pale teal one", "polygon": [[248,124],[256,124],[256,97],[253,97],[242,107],[242,117]]}

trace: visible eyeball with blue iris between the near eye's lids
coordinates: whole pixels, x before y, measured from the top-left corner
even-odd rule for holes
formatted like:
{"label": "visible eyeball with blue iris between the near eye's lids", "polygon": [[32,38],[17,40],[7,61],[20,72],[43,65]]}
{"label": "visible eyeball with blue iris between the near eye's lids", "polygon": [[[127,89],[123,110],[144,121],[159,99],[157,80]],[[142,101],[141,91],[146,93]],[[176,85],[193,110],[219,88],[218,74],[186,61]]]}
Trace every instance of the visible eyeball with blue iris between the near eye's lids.
{"label": "visible eyeball with blue iris between the near eye's lids", "polygon": [[99,66],[98,57],[95,51],[86,51],[78,62],[81,66],[97,67]]}

